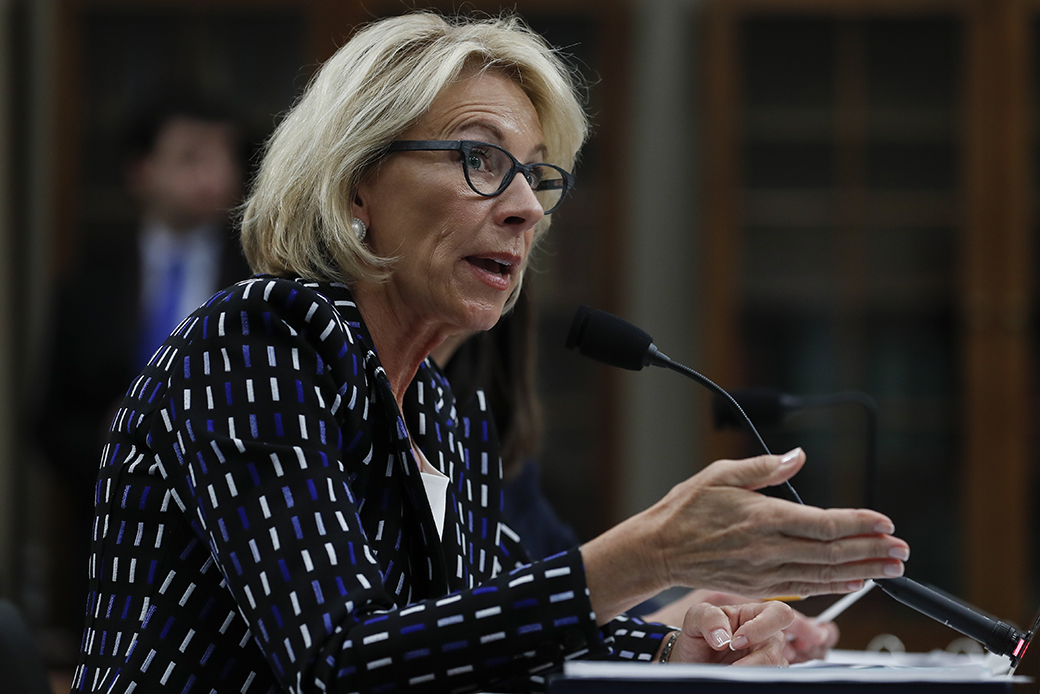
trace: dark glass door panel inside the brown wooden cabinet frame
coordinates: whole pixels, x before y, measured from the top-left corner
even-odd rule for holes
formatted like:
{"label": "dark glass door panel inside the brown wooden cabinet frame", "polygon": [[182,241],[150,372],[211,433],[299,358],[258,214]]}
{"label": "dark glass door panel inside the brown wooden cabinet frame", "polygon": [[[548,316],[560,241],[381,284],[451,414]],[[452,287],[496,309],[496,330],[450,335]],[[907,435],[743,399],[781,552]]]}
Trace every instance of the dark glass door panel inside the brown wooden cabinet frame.
{"label": "dark glass door panel inside the brown wooden cabinet frame", "polygon": [[[873,504],[915,576],[957,592],[958,24],[756,17],[739,31],[742,376],[877,401]],[[806,500],[866,502],[863,422],[837,407],[772,433],[777,451],[805,447]]]}

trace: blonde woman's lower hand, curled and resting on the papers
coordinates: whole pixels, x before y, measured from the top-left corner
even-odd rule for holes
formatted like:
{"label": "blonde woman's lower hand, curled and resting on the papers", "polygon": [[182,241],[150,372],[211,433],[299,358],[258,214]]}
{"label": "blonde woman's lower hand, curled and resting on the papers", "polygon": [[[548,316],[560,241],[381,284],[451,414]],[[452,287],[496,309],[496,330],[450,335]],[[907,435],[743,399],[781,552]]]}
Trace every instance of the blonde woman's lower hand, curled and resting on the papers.
{"label": "blonde woman's lower hand, curled and resting on the papers", "polygon": [[782,629],[792,621],[795,611],[784,602],[702,602],[686,611],[669,662],[786,667]]}

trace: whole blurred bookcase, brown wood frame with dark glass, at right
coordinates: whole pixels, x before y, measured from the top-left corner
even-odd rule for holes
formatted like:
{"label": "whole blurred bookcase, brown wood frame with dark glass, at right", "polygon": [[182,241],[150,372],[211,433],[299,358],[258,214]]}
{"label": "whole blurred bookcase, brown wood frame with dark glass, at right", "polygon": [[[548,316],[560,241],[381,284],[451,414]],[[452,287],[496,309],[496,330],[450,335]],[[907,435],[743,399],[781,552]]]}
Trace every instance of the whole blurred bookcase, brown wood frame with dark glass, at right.
{"label": "whole blurred bookcase, brown wood frame with dark glass, at right", "polygon": [[[703,22],[708,368],[873,395],[877,506],[911,544],[908,574],[1020,623],[1038,607],[1036,17],[1015,0],[733,0]],[[864,499],[864,435],[835,410],[772,440],[806,447],[807,500],[847,506]],[[864,628],[905,616],[876,603]]]}

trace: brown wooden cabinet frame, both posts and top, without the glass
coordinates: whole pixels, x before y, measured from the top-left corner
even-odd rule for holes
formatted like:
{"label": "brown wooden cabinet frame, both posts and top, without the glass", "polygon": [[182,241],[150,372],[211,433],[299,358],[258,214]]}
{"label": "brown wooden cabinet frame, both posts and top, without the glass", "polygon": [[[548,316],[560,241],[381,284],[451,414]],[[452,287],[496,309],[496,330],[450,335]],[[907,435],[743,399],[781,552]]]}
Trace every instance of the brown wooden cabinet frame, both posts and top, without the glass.
{"label": "brown wooden cabinet frame, both posts and top, without the glass", "polygon": [[[957,271],[962,409],[963,597],[1032,621],[1029,510],[1036,454],[1034,349],[1034,20],[1020,0],[719,0],[705,15],[707,369],[738,383],[740,262],[738,23],[756,14],[835,18],[941,15],[963,26],[963,201]],[[713,453],[720,453],[717,443]]]}

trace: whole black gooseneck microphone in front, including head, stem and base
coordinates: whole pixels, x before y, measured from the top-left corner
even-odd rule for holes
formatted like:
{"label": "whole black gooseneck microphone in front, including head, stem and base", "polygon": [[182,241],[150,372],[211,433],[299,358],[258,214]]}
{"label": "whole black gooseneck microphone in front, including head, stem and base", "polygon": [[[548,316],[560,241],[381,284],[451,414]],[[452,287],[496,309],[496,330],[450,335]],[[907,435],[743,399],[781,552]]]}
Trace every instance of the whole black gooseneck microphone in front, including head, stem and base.
{"label": "whole black gooseneck microphone in front, including head, stem and base", "polygon": [[[610,366],[633,371],[641,370],[645,366],[660,366],[697,381],[723,397],[737,420],[758,441],[762,451],[766,455],[772,455],[751,418],[732,395],[688,366],[670,359],[657,349],[650,335],[624,318],[606,311],[580,306],[567,335],[567,349],[577,350],[579,354]],[[789,481],[784,482],[784,491],[789,500],[803,504]],[[953,600],[906,576],[875,579],[874,582],[907,607],[979,641],[997,656],[1007,656],[1011,660],[1012,671],[1025,654],[1025,649],[1029,648],[1033,635],[1040,625],[1038,617],[1030,632],[1019,632],[1011,624],[987,617],[974,608]]]}

